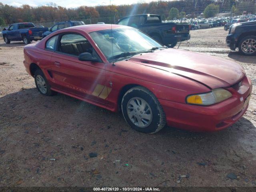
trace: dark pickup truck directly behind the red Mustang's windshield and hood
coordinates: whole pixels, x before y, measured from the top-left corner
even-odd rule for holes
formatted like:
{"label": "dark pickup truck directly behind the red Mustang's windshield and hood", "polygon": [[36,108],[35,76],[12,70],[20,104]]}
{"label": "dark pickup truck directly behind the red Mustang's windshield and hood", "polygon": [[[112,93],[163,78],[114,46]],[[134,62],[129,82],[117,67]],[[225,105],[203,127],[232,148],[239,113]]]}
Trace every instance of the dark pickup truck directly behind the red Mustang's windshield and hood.
{"label": "dark pickup truck directly behind the red Mustang's windshield and hood", "polygon": [[132,15],[120,19],[116,24],[137,28],[168,47],[174,47],[177,42],[190,39],[189,24],[162,22],[159,15]]}

